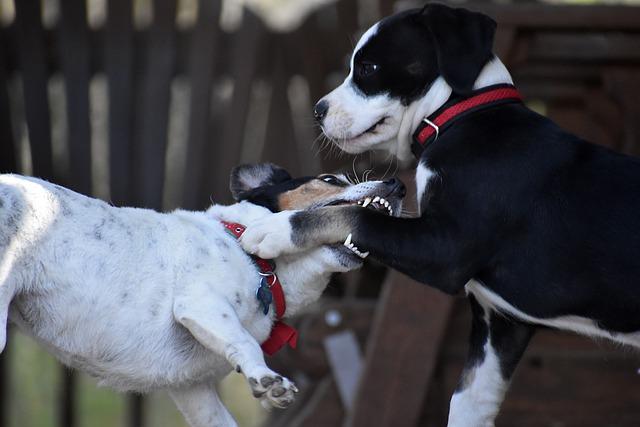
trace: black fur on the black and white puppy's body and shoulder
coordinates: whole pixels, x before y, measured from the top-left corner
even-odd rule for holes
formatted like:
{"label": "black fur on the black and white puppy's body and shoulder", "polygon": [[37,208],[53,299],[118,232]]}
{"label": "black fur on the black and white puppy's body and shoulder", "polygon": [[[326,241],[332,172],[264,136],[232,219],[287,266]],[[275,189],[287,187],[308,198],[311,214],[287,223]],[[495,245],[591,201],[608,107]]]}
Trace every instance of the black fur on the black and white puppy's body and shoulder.
{"label": "black fur on the black and white puppy's body and shoulder", "polygon": [[638,159],[511,104],[460,119],[420,161],[437,174],[420,218],[344,209],[359,248],[449,294],[478,279],[534,317],[640,331]]}

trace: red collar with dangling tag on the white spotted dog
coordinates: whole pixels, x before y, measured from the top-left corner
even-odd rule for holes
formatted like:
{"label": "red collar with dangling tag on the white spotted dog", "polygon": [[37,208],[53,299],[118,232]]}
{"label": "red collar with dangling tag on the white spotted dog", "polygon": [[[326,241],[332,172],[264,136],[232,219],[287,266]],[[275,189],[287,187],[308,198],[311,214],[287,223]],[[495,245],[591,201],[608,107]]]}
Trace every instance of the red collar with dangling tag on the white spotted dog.
{"label": "red collar with dangling tag on the white spotted dog", "polygon": [[[242,224],[226,221],[220,222],[236,239],[239,239],[246,229]],[[276,322],[271,329],[271,334],[269,335],[269,338],[260,345],[262,347],[262,351],[271,356],[286,344],[289,344],[291,348],[296,348],[298,343],[298,331],[280,320],[284,317],[284,313],[287,310],[287,304],[284,298],[282,285],[280,284],[280,279],[278,279],[278,276],[275,274],[275,263],[256,256],[251,256],[251,258],[260,269],[260,273],[262,273],[261,275],[266,277],[268,281],[267,283],[269,290],[273,295],[273,305],[276,311]]]}

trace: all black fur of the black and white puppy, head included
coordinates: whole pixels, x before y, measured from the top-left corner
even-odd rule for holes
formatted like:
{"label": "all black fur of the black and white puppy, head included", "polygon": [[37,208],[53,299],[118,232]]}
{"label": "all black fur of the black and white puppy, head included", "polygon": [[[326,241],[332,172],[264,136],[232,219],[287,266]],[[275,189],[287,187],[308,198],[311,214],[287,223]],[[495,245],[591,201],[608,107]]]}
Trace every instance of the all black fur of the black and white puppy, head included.
{"label": "all black fur of the black and white puppy, head included", "polygon": [[[365,96],[386,92],[405,104],[439,74],[466,93],[491,58],[494,29],[487,17],[440,5],[387,18],[356,55],[354,75],[363,61],[380,68],[354,82]],[[640,331],[638,159],[508,104],[459,119],[419,161],[436,174],[421,217],[338,208],[333,229],[353,230],[360,250],[449,294],[476,279],[535,318],[580,316],[612,337]],[[313,215],[326,212],[292,218],[294,241],[331,243],[321,237],[331,230],[311,231],[322,224]],[[482,362],[489,338],[507,379],[533,326],[495,313],[486,324],[481,314],[476,307],[467,367]]]}

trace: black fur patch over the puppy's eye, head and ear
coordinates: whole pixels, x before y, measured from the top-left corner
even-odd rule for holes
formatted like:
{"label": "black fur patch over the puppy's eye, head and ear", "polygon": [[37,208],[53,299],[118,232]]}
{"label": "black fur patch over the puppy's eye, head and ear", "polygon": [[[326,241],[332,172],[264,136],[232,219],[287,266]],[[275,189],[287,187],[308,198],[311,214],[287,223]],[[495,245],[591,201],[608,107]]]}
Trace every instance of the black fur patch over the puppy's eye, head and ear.
{"label": "black fur patch over the puppy's eye, head and ear", "polygon": [[440,4],[390,16],[356,52],[353,85],[363,96],[385,93],[408,105],[441,75],[467,94],[492,57],[495,29],[487,16]]}

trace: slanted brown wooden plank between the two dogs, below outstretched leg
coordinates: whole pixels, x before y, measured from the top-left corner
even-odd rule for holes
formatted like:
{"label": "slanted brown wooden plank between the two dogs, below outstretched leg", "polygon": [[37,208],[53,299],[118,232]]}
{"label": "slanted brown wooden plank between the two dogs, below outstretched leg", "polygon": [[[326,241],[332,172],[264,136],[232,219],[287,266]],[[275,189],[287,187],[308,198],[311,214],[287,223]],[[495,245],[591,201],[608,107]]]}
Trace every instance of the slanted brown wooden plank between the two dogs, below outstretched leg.
{"label": "slanted brown wooden plank between the two dogs, below outstretched leg", "polygon": [[389,274],[348,426],[416,425],[452,302],[453,298],[398,272]]}

